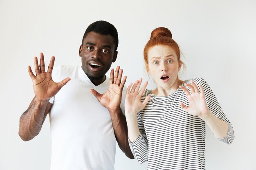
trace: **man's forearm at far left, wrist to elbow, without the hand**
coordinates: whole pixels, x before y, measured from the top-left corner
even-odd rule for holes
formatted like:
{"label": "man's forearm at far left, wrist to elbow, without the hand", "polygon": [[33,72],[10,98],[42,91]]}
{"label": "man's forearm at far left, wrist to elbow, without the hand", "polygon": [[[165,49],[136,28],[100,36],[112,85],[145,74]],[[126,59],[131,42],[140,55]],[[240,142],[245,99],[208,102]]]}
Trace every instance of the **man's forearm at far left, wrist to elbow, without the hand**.
{"label": "man's forearm at far left, wrist to elbow, without the hand", "polygon": [[29,108],[20,117],[19,135],[23,141],[33,139],[40,132],[46,117],[48,101],[37,101],[34,98]]}

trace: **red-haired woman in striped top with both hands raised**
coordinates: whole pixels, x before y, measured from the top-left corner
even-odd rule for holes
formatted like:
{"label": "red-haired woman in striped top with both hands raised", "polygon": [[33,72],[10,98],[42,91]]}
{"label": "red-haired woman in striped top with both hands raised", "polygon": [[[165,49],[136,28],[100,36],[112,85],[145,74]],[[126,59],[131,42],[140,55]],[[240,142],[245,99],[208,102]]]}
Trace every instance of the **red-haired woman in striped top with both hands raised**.
{"label": "red-haired woman in striped top with both hands raised", "polygon": [[144,60],[156,88],[128,86],[125,113],[129,144],[148,170],[205,170],[205,124],[220,141],[231,144],[234,130],[216,96],[202,78],[180,80],[180,49],[171,31],[152,31]]}

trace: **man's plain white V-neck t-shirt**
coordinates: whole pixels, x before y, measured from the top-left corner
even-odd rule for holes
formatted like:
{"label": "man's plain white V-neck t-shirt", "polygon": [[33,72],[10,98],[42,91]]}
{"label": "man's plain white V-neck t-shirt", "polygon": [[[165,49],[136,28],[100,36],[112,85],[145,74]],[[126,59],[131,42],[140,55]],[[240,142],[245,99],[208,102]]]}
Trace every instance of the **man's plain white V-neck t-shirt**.
{"label": "man's plain white V-neck t-shirt", "polygon": [[[103,94],[109,78],[95,86],[81,66],[57,66],[53,80],[71,80],[49,102],[51,170],[114,170],[116,138],[108,109],[90,92]],[[121,109],[124,113],[125,91]]]}

